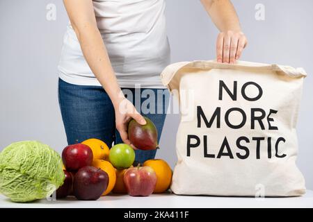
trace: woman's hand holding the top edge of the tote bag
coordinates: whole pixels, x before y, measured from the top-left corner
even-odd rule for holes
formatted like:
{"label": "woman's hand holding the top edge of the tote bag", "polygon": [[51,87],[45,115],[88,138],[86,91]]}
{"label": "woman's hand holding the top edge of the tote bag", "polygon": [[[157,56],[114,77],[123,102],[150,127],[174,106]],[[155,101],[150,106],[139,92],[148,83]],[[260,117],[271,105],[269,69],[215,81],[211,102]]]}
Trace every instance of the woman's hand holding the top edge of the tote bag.
{"label": "woman's hand holding the top edge of the tote bag", "polygon": [[216,41],[217,62],[233,64],[236,60],[239,60],[247,43],[247,38],[241,31],[219,33]]}

